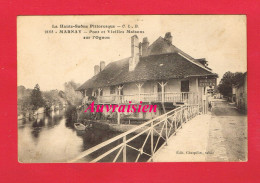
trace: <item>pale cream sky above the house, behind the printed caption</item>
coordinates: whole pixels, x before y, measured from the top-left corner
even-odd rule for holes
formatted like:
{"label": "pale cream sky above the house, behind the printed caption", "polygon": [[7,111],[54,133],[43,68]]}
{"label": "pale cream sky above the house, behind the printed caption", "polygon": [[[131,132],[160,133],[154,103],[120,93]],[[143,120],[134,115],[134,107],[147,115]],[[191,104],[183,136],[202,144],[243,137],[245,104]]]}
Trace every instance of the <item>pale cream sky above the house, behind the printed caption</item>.
{"label": "pale cream sky above the house, behind the printed caption", "polygon": [[[59,28],[60,25],[114,25],[115,28]],[[144,33],[107,33],[131,29]],[[58,28],[52,28],[58,26]],[[119,27],[120,26],[120,27]],[[53,30],[57,33],[48,33]],[[81,30],[64,34],[60,30]],[[90,31],[99,31],[93,33]],[[106,33],[101,33],[106,31]],[[193,58],[206,58],[219,75],[247,71],[246,16],[244,15],[135,15],[135,16],[19,16],[17,21],[18,86],[62,90],[64,83],[83,84],[94,75],[94,65],[106,65],[131,55],[131,36],[150,44],[166,32],[172,44]],[[83,39],[83,37],[90,39]],[[93,36],[110,39],[92,39]]]}

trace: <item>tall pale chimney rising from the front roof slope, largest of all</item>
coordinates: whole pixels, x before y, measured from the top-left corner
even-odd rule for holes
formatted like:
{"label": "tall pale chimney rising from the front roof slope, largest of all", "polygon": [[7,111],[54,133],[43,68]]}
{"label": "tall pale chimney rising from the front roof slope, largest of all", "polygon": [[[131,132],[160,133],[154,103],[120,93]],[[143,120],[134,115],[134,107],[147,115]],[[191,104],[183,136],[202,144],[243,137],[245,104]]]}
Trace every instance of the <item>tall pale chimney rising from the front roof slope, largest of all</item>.
{"label": "tall pale chimney rising from the front roof slope, largest of all", "polygon": [[131,37],[131,58],[129,59],[129,71],[133,71],[139,62],[139,39],[137,35]]}

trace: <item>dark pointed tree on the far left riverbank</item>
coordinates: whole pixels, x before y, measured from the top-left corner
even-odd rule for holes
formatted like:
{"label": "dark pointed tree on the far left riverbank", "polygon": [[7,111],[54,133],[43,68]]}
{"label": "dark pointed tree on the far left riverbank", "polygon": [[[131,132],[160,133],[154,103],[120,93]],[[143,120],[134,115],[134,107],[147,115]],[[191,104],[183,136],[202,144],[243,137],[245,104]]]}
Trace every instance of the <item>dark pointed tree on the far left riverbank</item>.
{"label": "dark pointed tree on the far left riverbank", "polygon": [[45,102],[42,97],[42,92],[40,90],[40,86],[38,84],[36,84],[31,93],[32,108],[33,108],[33,110],[37,110],[38,108],[43,107],[44,104],[45,104]]}

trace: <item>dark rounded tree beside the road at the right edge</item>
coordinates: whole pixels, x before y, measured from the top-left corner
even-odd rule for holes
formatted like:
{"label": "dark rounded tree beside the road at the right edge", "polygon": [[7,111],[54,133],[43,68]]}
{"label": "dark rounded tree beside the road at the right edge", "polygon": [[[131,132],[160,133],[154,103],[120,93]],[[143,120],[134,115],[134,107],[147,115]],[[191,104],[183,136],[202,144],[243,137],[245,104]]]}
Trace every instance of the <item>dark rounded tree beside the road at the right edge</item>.
{"label": "dark rounded tree beside the road at the right edge", "polygon": [[243,77],[242,72],[236,72],[236,73],[232,73],[230,71],[226,72],[223,75],[218,85],[219,92],[224,96],[231,97],[232,85],[237,85],[241,81],[242,77]]}

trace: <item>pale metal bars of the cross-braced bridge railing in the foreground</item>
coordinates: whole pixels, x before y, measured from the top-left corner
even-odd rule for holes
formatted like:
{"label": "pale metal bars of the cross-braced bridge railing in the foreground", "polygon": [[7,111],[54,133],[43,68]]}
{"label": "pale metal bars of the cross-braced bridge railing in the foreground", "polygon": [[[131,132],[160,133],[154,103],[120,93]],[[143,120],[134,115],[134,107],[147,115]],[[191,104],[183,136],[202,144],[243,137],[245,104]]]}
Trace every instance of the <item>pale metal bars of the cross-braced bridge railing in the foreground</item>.
{"label": "pale metal bars of the cross-braced bridge railing in the foreground", "polygon": [[[173,125],[175,125],[174,133],[175,134],[177,133],[177,129],[178,129],[178,127],[176,125],[176,123],[177,123],[177,115],[179,115],[178,118],[180,118],[180,122],[181,122],[180,127],[182,127],[183,118],[185,117],[185,114],[187,112],[189,113],[189,111],[194,110],[194,109],[196,109],[196,111],[195,111],[195,113],[193,113],[193,115],[190,115],[190,117],[191,116],[194,117],[195,115],[197,115],[199,113],[199,106],[198,105],[185,105],[185,106],[181,106],[181,107],[178,107],[176,109],[173,109],[173,110],[171,110],[171,111],[169,111],[169,112],[167,112],[165,114],[162,114],[161,116],[158,116],[158,117],[156,117],[154,119],[151,119],[151,120],[149,120],[149,121],[147,121],[147,122],[145,122],[145,123],[143,123],[141,125],[138,125],[138,126],[132,128],[132,129],[128,130],[127,132],[124,132],[124,133],[122,133],[120,135],[117,135],[117,136],[115,136],[115,137],[113,137],[113,138],[111,138],[111,139],[109,139],[109,140],[107,140],[105,142],[102,142],[102,143],[100,143],[100,144],[98,144],[98,145],[96,145],[96,146],[94,146],[94,147],[92,147],[92,148],[90,148],[90,149],[80,153],[77,157],[75,157],[74,159],[70,160],[69,162],[76,162],[79,159],[82,159],[83,157],[85,157],[85,156],[87,156],[87,155],[89,155],[89,154],[91,154],[91,153],[93,153],[93,152],[95,152],[95,151],[97,151],[97,150],[99,150],[99,149],[101,149],[101,148],[103,148],[103,147],[105,147],[105,146],[107,146],[107,145],[109,145],[109,144],[119,140],[119,139],[122,139],[122,138],[123,138],[123,142],[122,143],[120,143],[116,147],[113,147],[112,149],[108,150],[106,153],[98,156],[97,158],[95,158],[91,162],[97,162],[97,161],[101,160],[102,158],[106,157],[107,155],[111,154],[112,152],[114,152],[115,150],[117,150],[119,148],[121,148],[121,149],[119,150],[119,152],[117,153],[116,157],[114,158],[114,162],[117,160],[117,158],[119,157],[119,154],[122,151],[123,151],[123,161],[126,162],[126,159],[127,159],[126,158],[126,147],[130,147],[132,149],[140,151],[139,155],[138,155],[138,157],[136,159],[138,161],[138,159],[140,157],[140,154],[145,153],[145,152],[143,152],[143,149],[136,149],[136,148],[130,146],[129,144],[127,144],[127,143],[132,141],[132,140],[134,140],[134,139],[136,139],[137,137],[139,137],[140,135],[144,134],[147,131],[149,131],[149,133],[147,134],[146,140],[143,143],[142,148],[144,147],[144,145],[145,145],[145,143],[147,141],[147,138],[150,135],[151,136],[151,155],[149,155],[148,153],[146,153],[146,155],[149,155],[150,156],[150,160],[152,160],[153,154],[156,151],[156,147],[158,145],[159,139],[160,138],[165,139],[166,144],[167,144],[167,140],[168,140],[169,136],[173,134],[173,133],[172,134],[170,133]],[[178,114],[178,113],[180,113],[180,114]],[[190,114],[192,114],[192,113],[190,113]],[[170,123],[170,128],[167,129],[169,120],[171,120],[170,118],[172,118],[172,117],[175,118],[175,121],[172,120],[172,122]],[[189,117],[189,119],[190,119],[190,117]],[[185,118],[186,118],[186,121],[188,121],[188,116],[186,116]],[[163,127],[161,129],[161,132],[159,133],[155,129],[155,127],[159,126],[161,123],[163,123]],[[127,135],[129,135],[129,134],[131,134],[131,133],[133,133],[133,132],[135,132],[137,130],[142,129],[143,127],[145,127],[147,125],[149,125],[148,128],[146,128],[146,129],[142,130],[141,132],[137,133],[135,136],[131,137],[130,139],[126,139]],[[164,130],[164,126],[166,127],[165,131],[163,131]],[[153,140],[154,140],[153,133],[154,132],[159,134],[159,138],[157,139],[155,147],[154,147],[154,144],[153,144]],[[163,132],[165,132],[165,134],[166,134],[165,137],[163,137]]]}

